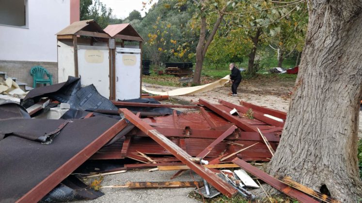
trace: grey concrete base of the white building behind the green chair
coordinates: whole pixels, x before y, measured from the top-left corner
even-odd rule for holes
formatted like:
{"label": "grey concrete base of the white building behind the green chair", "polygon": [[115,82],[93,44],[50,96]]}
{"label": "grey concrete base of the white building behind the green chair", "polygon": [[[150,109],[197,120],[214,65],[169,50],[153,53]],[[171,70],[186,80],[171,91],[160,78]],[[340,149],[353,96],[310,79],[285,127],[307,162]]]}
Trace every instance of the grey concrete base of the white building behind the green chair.
{"label": "grey concrete base of the white building behind the green chair", "polygon": [[16,77],[17,81],[27,83],[32,87],[30,69],[33,66],[43,66],[53,75],[53,84],[58,83],[58,62],[0,60],[0,72]]}

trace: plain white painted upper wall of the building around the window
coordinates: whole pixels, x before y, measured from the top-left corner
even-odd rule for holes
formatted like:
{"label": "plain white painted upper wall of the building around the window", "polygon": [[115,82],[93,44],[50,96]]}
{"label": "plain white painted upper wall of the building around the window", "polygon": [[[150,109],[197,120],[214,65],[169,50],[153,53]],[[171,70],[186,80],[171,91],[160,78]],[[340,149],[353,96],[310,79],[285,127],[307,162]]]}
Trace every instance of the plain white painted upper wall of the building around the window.
{"label": "plain white painted upper wall of the building around the window", "polygon": [[70,23],[70,0],[28,0],[28,28],[0,25],[0,60],[57,62],[55,33]]}

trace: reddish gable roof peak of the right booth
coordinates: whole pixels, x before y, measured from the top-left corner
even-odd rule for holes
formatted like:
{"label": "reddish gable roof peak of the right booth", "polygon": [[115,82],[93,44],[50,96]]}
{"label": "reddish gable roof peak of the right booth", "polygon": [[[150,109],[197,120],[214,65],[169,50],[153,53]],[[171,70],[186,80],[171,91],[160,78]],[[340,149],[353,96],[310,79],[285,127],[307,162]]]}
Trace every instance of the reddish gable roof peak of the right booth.
{"label": "reddish gable roof peak of the right booth", "polygon": [[129,23],[109,25],[104,31],[112,38],[143,42],[140,34]]}

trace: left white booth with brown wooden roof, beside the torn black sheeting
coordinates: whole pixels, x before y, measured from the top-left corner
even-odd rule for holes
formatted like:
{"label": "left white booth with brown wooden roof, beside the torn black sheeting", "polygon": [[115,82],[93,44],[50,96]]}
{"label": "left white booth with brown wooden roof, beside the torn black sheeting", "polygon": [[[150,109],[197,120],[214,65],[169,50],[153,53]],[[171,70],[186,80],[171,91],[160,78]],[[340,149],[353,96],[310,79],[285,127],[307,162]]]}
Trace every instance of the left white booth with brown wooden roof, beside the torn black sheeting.
{"label": "left white booth with brown wooden roof, beside the torn black sheeting", "polygon": [[110,36],[95,21],[83,20],[58,32],[57,39],[58,82],[80,77],[82,86],[93,84],[102,96],[112,99]]}

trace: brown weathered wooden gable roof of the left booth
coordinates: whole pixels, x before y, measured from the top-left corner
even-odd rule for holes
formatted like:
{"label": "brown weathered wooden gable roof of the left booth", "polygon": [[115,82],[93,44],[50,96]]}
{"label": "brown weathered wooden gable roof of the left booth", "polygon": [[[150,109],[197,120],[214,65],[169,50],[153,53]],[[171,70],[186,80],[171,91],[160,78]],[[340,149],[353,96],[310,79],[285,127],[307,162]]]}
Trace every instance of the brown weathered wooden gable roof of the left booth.
{"label": "brown weathered wooden gable roof of the left booth", "polygon": [[[76,21],[67,26],[66,28],[62,29],[61,31],[59,31],[56,35],[74,35],[74,34],[82,35],[80,31],[106,34],[106,32],[103,31],[103,29],[93,19],[89,19],[89,20]],[[108,34],[102,37],[109,38]]]}

